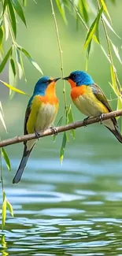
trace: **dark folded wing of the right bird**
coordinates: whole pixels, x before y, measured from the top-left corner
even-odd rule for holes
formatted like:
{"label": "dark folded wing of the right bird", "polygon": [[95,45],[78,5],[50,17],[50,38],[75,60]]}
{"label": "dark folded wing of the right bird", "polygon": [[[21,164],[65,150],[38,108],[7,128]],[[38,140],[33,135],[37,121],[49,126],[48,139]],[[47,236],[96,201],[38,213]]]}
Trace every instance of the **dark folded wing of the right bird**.
{"label": "dark folded wing of the right bird", "polygon": [[[98,84],[94,83],[91,88],[95,97],[98,98],[98,101],[102,102],[102,104],[109,110],[109,112],[113,111],[102,89],[98,87]],[[113,117],[112,120],[113,120],[113,124],[117,126],[116,118]]]}

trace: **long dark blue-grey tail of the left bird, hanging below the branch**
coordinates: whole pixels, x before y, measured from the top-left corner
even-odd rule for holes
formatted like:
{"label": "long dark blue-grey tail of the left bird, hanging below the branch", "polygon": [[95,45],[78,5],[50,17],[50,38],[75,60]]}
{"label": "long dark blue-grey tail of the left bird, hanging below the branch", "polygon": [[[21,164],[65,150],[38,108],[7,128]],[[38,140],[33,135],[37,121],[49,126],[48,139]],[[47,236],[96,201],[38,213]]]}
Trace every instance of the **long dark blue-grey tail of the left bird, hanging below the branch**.
{"label": "long dark blue-grey tail of the left bird, hanging below the branch", "polygon": [[[35,144],[33,145],[33,147],[35,146]],[[31,147],[31,150],[33,149],[33,147]],[[26,144],[24,145],[24,153],[23,153],[23,156],[22,156],[22,159],[20,161],[20,165],[19,165],[19,168],[17,169],[17,173],[16,175],[14,176],[13,178],[13,184],[14,183],[18,183],[21,179],[21,176],[24,172],[24,168],[27,164],[27,161],[28,161],[28,158],[31,154],[31,150],[27,150],[27,146]]]}

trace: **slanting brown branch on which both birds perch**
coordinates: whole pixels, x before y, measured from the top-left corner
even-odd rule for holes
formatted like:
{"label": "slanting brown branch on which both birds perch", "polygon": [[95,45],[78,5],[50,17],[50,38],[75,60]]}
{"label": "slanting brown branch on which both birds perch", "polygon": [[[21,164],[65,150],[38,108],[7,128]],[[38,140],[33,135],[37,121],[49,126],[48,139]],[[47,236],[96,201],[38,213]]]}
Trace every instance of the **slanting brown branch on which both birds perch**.
{"label": "slanting brown branch on which both birds perch", "polygon": [[[56,129],[57,129],[57,133],[65,132],[65,131],[80,128],[80,127],[83,127],[83,126],[87,126],[89,124],[98,123],[99,121],[104,121],[104,120],[107,120],[109,118],[119,117],[119,116],[122,116],[122,109],[121,110],[116,110],[116,111],[113,111],[113,112],[110,112],[110,113],[104,113],[102,116],[90,117],[85,121],[76,121],[75,123],[72,123],[72,124],[58,126]],[[54,135],[54,130],[53,129],[49,128],[46,131],[39,133],[39,137],[41,137],[41,138],[45,137],[45,136],[49,136],[49,135]],[[0,147],[6,147],[6,146],[9,146],[9,145],[12,145],[12,144],[22,143],[24,141],[31,140],[31,139],[37,139],[35,133],[2,140],[2,141],[0,141]]]}

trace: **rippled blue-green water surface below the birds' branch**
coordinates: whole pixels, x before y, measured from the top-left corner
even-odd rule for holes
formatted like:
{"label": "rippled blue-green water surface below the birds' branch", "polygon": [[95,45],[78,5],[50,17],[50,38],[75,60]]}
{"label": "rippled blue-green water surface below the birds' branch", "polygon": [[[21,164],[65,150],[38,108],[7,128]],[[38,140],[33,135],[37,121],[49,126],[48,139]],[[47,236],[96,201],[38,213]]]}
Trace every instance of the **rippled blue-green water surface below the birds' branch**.
{"label": "rippled blue-green water surface below the birds' branch", "polygon": [[63,165],[54,153],[30,158],[18,185],[5,173],[14,218],[1,255],[122,255],[121,145],[111,135],[92,143],[72,142]]}

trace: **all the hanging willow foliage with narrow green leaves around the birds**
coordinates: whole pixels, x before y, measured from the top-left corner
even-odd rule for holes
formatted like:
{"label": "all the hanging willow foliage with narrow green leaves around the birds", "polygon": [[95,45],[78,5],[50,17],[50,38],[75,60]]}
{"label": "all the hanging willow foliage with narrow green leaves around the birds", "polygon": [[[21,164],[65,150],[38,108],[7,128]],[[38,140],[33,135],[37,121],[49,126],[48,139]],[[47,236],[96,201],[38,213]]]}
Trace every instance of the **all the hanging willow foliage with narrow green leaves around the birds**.
{"label": "all the hanging willow foliage with narrow green leaves around the birds", "polygon": [[[115,43],[113,43],[112,39],[109,36],[109,31],[113,32],[118,40],[120,40],[119,35],[113,29],[112,19],[110,17],[108,2],[105,0],[96,0],[96,1],[87,1],[87,0],[55,0],[57,9],[61,13],[61,17],[65,21],[65,24],[68,23],[68,15],[67,13],[72,13],[74,19],[76,20],[76,24],[82,25],[83,29],[87,31],[86,39],[84,39],[83,51],[86,51],[86,70],[88,69],[88,60],[91,54],[91,45],[92,43],[98,44],[100,49],[102,50],[105,58],[109,61],[109,69],[111,81],[109,82],[111,87],[113,88],[114,93],[117,96],[117,109],[122,108],[122,99],[121,99],[121,85],[117,76],[116,67],[113,63],[113,54],[116,56],[117,60],[120,61],[120,65],[122,65],[122,61],[120,59],[119,50],[117,49]],[[111,0],[113,4],[115,1]],[[2,62],[0,64],[0,73],[6,66],[6,63],[9,61],[9,83],[6,81],[0,80],[5,86],[9,87],[9,95],[11,96],[12,92],[15,91],[17,93],[25,94],[24,91],[20,91],[16,88],[16,80],[21,79],[22,77],[26,80],[25,72],[24,72],[24,64],[23,64],[23,55],[28,58],[28,61],[38,69],[39,72],[43,74],[42,69],[40,69],[39,65],[31,58],[31,55],[25,50],[22,46],[17,43],[17,19],[19,18],[22,23],[24,23],[25,27],[27,27],[26,18],[24,16],[24,6],[26,6],[27,0],[0,0],[1,5],[1,16],[0,16],[0,58]],[[29,1],[28,1],[29,4]],[[59,56],[61,61],[61,76],[64,76],[64,68],[63,68],[63,56],[61,50],[61,41],[59,36],[59,29],[57,25],[57,19],[55,15],[54,2],[50,0],[50,14],[51,10],[54,17],[54,26],[56,29],[57,43],[59,49]],[[92,20],[92,18],[94,19]],[[103,28],[105,32],[105,40],[107,43],[107,49],[102,46],[101,36],[100,36],[100,28]],[[9,41],[10,46],[9,49],[4,52],[3,43],[5,44]],[[66,95],[65,95],[65,82],[63,82],[63,95],[64,95],[64,105],[65,110],[64,114],[61,117],[58,124],[61,124],[62,121],[65,124],[69,124],[73,121],[72,117],[72,108],[71,105],[67,106]],[[2,110],[2,103],[0,102],[0,120],[6,130],[6,123],[4,121],[4,114]],[[7,131],[6,131],[7,132]],[[74,131],[71,131],[72,138],[75,139]],[[66,143],[68,142],[68,132],[65,132],[63,135],[61,150],[60,150],[60,160],[63,161]],[[6,166],[10,171],[10,162],[9,157],[6,154],[6,151],[2,148],[1,150],[1,181],[2,181],[2,196],[3,196],[3,204],[2,204],[2,228],[4,227],[6,221],[6,208],[8,208],[9,212],[13,216],[12,206],[6,199],[6,193],[3,187],[3,177],[2,177],[2,158],[6,161]]]}

